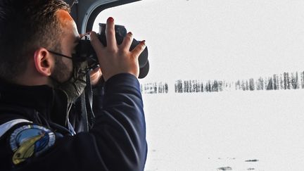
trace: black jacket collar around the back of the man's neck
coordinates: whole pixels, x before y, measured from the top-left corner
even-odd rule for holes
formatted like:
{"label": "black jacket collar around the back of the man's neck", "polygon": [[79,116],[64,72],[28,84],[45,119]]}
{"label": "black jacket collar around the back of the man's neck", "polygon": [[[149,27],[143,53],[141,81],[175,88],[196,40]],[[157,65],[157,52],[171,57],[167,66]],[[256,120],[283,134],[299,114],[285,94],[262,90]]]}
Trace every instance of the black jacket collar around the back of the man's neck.
{"label": "black jacket collar around the back of the man's neck", "polygon": [[23,86],[0,80],[0,103],[32,108],[47,120],[63,126],[67,122],[66,94],[48,85]]}

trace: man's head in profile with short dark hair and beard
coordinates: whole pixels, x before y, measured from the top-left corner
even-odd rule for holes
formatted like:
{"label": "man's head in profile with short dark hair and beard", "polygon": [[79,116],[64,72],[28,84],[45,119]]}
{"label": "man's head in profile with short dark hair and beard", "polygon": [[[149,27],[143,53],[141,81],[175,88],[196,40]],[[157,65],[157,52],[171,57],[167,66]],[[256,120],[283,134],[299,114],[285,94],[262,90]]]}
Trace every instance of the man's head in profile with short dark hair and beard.
{"label": "man's head in profile with short dark hair and beard", "polygon": [[79,34],[69,12],[60,0],[0,0],[0,77],[15,82],[29,72],[67,80],[72,61],[48,50],[72,55]]}

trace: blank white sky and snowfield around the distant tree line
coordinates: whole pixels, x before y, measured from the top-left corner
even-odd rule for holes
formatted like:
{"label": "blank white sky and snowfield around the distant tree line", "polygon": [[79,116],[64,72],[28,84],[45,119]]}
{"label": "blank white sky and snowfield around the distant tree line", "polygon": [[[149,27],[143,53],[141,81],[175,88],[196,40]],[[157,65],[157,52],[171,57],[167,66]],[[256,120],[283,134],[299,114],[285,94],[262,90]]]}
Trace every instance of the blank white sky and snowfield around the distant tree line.
{"label": "blank white sky and snowfield around the distant tree line", "polygon": [[[143,0],[102,11],[146,39],[148,170],[303,170],[304,90],[175,94],[176,80],[303,71],[304,1]],[[245,162],[257,159],[258,162]]]}

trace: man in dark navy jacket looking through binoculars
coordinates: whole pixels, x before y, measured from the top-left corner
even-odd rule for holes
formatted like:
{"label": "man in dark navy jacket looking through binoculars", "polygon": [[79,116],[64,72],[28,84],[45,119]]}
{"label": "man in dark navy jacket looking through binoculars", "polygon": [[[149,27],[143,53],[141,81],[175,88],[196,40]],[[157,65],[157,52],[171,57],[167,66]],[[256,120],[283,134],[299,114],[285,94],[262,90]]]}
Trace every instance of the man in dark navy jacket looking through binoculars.
{"label": "man in dark navy jacket looking through binoculars", "polygon": [[144,170],[145,44],[129,51],[129,32],[118,45],[113,18],[106,47],[90,33],[101,66],[91,73],[96,119],[75,131],[87,64],[70,57],[81,36],[69,11],[60,0],[0,0],[0,170]]}

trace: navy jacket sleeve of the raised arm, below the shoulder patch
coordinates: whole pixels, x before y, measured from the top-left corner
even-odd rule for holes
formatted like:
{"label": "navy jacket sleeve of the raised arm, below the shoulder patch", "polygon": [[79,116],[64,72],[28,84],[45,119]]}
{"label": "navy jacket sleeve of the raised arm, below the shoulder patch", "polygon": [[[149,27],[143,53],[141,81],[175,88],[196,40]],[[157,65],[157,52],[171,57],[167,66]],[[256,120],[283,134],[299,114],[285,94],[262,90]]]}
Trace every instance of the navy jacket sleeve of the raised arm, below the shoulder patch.
{"label": "navy jacket sleeve of the raised arm, below the shoulder patch", "polygon": [[[96,120],[89,132],[56,139],[25,170],[144,170],[146,124],[136,77],[119,74],[104,87]],[[98,99],[97,99],[98,101]]]}

